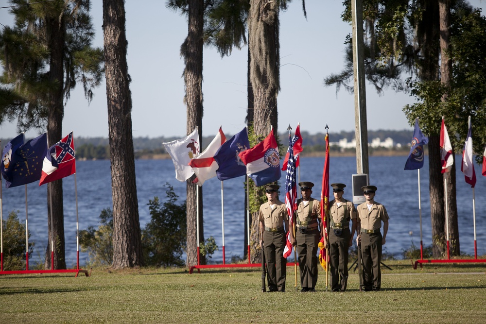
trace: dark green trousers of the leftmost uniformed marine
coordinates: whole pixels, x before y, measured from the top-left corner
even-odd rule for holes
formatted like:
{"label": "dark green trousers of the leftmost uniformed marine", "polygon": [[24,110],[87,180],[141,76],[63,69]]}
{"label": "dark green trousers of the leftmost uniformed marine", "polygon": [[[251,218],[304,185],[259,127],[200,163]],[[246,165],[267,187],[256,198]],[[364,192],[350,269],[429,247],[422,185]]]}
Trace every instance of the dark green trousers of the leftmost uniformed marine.
{"label": "dark green trousers of the leftmost uniformed marine", "polygon": [[267,265],[267,282],[269,291],[285,291],[287,276],[287,259],[283,257],[285,248],[285,231],[263,232],[263,249]]}

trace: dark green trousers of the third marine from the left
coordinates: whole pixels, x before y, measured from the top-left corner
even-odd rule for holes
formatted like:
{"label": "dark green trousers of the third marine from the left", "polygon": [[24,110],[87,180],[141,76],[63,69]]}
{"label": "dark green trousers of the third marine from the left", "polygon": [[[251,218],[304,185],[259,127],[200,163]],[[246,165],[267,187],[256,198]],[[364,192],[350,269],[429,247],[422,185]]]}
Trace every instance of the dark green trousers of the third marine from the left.
{"label": "dark green trousers of the third marine from the left", "polygon": [[329,254],[331,290],[345,291],[347,287],[347,260],[349,256],[349,240],[351,231],[348,228],[342,229],[340,236],[334,234],[334,229],[329,230]]}

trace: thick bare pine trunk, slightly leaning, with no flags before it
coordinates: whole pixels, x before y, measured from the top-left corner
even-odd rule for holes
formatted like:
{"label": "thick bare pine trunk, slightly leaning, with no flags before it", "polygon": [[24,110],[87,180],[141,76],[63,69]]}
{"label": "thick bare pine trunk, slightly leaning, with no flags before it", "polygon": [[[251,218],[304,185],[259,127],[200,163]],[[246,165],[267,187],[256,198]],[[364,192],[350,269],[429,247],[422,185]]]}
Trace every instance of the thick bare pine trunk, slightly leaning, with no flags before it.
{"label": "thick bare pine trunk, slightly leaning, with no flags before it", "polygon": [[113,198],[113,269],[143,265],[123,2],[123,0],[103,0],[108,138]]}

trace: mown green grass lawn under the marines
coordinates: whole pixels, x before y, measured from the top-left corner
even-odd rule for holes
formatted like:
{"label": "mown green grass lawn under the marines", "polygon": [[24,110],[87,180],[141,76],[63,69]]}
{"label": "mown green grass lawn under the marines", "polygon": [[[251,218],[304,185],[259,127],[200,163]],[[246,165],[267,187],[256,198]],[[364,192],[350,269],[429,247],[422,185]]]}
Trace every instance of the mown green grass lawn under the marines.
{"label": "mown green grass lawn under the marines", "polygon": [[285,293],[262,293],[259,268],[140,269],[91,276],[0,276],[0,323],[485,323],[486,267],[384,261],[382,290],[295,292],[288,267]]}

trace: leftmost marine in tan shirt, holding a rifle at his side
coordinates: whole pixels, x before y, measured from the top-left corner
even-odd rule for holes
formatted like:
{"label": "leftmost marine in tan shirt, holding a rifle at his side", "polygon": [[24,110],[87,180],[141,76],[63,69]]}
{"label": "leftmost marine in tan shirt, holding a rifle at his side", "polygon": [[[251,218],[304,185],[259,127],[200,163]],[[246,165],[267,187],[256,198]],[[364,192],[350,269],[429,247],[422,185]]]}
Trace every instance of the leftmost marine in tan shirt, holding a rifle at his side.
{"label": "leftmost marine in tan shirt, holding a rifle at his side", "polygon": [[[268,291],[285,291],[287,259],[283,257],[289,217],[285,204],[277,199],[277,185],[265,186],[268,202],[260,206],[260,233],[267,266]],[[284,228],[285,224],[285,228]]]}

